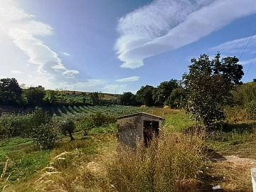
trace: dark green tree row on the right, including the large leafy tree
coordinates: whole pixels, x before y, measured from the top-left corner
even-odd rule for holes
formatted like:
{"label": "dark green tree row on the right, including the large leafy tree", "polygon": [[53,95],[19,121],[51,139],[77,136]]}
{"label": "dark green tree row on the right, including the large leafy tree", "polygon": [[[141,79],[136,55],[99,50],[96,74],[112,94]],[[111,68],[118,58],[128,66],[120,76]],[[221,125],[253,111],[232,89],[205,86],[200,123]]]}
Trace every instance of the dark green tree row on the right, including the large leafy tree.
{"label": "dark green tree row on the right, including the large leafy tree", "polygon": [[117,103],[183,108],[206,127],[216,127],[225,119],[224,109],[227,106],[243,105],[250,114],[255,113],[256,80],[241,86],[244,73],[238,62],[235,56],[221,58],[217,53],[210,59],[203,54],[191,59],[188,73],[183,74],[182,80],[171,79],[157,87],[142,86],[135,95],[124,92]]}

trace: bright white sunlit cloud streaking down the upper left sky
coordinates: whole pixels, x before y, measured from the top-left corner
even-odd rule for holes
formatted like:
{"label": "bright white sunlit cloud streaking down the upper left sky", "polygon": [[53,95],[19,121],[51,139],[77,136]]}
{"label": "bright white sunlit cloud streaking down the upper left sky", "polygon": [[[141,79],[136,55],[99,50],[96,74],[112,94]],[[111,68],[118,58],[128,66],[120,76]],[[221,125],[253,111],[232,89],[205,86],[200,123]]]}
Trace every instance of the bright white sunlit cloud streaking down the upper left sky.
{"label": "bright white sunlit cloud streaking down the upper left sky", "polygon": [[[20,53],[23,53],[28,62],[33,64],[30,65],[29,71],[26,71],[26,73],[30,73],[29,75],[33,80],[26,78],[23,81],[34,85],[40,82],[38,79],[40,77],[40,84],[44,82],[49,87],[54,87],[58,86],[59,82],[75,78],[75,75],[78,75],[78,70],[67,69],[58,54],[41,40],[41,37],[53,34],[51,26],[36,21],[35,16],[23,11],[14,0],[1,0],[0,4],[0,39],[10,40],[11,42],[8,44],[16,46],[16,50],[12,48],[12,50],[15,50],[15,55],[20,56]],[[20,53],[17,53],[17,50]],[[9,53],[8,56],[12,59],[14,54]],[[8,67],[6,66],[6,68]],[[15,72],[13,74],[18,75]]]}

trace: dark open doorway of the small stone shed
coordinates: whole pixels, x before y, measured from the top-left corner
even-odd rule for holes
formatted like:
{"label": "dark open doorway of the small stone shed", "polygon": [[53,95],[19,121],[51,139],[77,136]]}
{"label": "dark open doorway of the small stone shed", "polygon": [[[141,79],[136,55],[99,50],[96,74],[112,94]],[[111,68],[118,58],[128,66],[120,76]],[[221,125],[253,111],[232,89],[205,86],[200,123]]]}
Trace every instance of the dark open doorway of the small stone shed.
{"label": "dark open doorway of the small stone shed", "polygon": [[159,122],[156,121],[144,121],[143,122],[143,137],[146,146],[149,145],[151,139],[159,134]]}

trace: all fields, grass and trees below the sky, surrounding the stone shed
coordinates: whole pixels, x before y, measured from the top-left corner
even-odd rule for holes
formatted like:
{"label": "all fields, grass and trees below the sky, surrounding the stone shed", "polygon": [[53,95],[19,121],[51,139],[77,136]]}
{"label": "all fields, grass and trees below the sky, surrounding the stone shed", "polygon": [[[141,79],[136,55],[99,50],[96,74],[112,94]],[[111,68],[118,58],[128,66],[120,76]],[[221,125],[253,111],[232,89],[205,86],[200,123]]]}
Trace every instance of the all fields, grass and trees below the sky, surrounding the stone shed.
{"label": "all fields, grass and trees below the sky, surrounding the stone shed", "polygon": [[[250,191],[256,82],[238,58],[191,59],[182,80],[134,95],[44,90],[1,79],[3,191]],[[117,142],[116,118],[164,117],[159,137],[137,149]],[[216,156],[217,155],[217,156]],[[237,161],[218,161],[236,156]],[[215,159],[215,161],[211,161]]]}

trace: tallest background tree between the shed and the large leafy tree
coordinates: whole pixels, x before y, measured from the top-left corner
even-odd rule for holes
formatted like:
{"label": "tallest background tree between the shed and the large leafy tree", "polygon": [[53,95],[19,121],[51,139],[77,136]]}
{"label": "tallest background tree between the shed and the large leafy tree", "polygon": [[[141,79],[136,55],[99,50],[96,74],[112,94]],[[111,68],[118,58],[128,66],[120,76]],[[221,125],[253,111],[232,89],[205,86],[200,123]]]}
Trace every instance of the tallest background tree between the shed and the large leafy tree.
{"label": "tallest background tree between the shed and the large leafy tree", "polygon": [[178,87],[178,80],[171,79],[169,81],[161,82],[153,94],[156,104],[168,104],[171,92]]}

